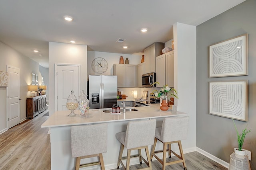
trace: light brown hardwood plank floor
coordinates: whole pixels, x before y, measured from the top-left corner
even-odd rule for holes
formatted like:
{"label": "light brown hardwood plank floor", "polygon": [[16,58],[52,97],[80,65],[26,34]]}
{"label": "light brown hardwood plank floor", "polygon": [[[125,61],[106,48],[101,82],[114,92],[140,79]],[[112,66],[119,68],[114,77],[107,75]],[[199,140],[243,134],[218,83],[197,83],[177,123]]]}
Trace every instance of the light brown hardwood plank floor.
{"label": "light brown hardwood plank floor", "polygon": [[[44,113],[0,135],[0,170],[50,170],[50,135],[47,134],[48,128],[41,128],[48,117],[42,115]],[[188,170],[227,169],[198,152],[185,154],[185,159]],[[152,162],[152,166],[153,170],[162,169],[156,160]],[[146,167],[144,163],[133,165],[130,170],[143,167]],[[182,163],[174,164],[166,166],[166,170],[183,170],[183,166]]]}

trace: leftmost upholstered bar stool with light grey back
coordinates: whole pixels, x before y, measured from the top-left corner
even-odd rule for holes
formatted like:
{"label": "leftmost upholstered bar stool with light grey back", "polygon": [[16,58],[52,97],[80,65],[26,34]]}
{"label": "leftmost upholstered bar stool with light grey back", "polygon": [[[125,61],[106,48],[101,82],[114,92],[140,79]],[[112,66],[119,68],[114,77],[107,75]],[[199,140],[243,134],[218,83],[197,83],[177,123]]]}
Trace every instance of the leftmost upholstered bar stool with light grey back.
{"label": "leftmost upholstered bar stool with light grey back", "polygon": [[[105,170],[102,153],[107,152],[106,123],[71,127],[72,157],[76,158],[76,170],[82,167],[100,165]],[[80,160],[99,156],[99,162],[80,165]]]}

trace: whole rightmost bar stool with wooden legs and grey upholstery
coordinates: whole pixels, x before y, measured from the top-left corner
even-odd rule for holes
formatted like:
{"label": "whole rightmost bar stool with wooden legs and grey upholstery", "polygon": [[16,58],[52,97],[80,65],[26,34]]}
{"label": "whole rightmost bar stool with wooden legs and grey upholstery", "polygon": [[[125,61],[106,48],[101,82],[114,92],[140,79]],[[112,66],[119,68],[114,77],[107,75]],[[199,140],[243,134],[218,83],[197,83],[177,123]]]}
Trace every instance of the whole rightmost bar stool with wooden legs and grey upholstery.
{"label": "whole rightmost bar stool with wooden legs and grey upholstery", "polygon": [[[176,163],[183,163],[184,170],[186,170],[185,158],[182,150],[181,140],[186,139],[188,132],[188,116],[184,117],[167,117],[164,118],[162,127],[156,128],[156,135],[154,140],[154,145],[151,150],[150,159],[153,156],[162,164],[163,170],[167,165],[172,165]],[[155,151],[156,142],[160,141],[163,143],[163,150]],[[180,149],[180,155],[171,150],[171,144],[178,143]],[[168,148],[167,148],[168,146]],[[168,151],[169,158],[171,158],[171,152],[179,158],[179,160],[173,160],[171,162],[166,162],[166,152]],[[156,153],[163,152],[163,159],[161,160]]]}

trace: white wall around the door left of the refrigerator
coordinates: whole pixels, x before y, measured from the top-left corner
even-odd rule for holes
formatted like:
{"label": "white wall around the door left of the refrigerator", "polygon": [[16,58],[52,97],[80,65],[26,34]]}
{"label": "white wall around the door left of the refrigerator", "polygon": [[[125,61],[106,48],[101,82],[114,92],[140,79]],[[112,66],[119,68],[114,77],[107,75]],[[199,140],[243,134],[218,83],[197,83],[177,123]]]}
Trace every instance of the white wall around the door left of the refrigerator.
{"label": "white wall around the door left of the refrigerator", "polygon": [[87,45],[49,42],[49,114],[56,111],[54,64],[81,64],[81,89],[87,90]]}

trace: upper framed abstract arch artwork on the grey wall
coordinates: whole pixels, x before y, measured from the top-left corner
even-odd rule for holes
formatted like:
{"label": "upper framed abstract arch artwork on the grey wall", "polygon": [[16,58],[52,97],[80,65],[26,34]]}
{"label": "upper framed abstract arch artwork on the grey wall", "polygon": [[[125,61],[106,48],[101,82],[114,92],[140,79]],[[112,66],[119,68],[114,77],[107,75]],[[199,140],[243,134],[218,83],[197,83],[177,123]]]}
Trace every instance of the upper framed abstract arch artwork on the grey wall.
{"label": "upper framed abstract arch artwork on the grey wall", "polygon": [[209,77],[248,75],[248,34],[209,46]]}

